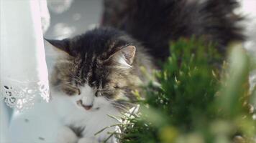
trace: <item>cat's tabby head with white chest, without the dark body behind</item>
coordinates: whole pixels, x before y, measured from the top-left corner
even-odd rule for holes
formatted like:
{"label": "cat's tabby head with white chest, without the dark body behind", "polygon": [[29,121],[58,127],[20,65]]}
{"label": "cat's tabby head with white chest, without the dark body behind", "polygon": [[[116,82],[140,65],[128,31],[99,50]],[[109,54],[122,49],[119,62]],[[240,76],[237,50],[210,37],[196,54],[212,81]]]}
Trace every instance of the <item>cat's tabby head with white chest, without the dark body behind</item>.
{"label": "cat's tabby head with white chest, without the dark body behind", "polygon": [[50,87],[52,101],[67,128],[57,142],[103,142],[114,127],[94,134],[119,123],[108,115],[120,116],[137,100],[132,92],[147,80],[140,66],[147,71],[155,69],[151,57],[139,42],[111,28],[47,41],[60,52]]}

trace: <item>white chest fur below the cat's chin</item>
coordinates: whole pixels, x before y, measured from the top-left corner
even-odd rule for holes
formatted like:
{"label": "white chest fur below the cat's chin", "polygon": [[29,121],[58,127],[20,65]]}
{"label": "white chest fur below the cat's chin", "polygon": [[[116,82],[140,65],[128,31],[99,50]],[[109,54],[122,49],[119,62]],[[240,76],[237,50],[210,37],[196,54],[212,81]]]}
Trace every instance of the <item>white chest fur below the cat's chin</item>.
{"label": "white chest fur below the cat's chin", "polygon": [[[68,97],[67,95],[61,95],[58,92],[52,94],[52,104],[54,104],[54,107],[57,110],[63,124],[76,128],[84,128],[81,134],[83,136],[83,139],[81,139],[81,141],[83,140],[82,142],[86,142],[84,141],[86,139],[93,139],[94,141],[102,142],[104,141],[104,139],[109,137],[109,132],[114,132],[115,127],[111,127],[95,136],[95,133],[99,132],[101,129],[118,123],[115,119],[112,119],[108,115],[119,116],[119,111],[111,105],[111,102],[104,99],[104,97],[95,97],[93,99],[93,107],[86,110],[83,107],[79,107],[76,103],[78,99],[81,99],[83,97]],[[60,133],[58,138],[68,137],[67,134],[69,133],[67,133],[66,131]],[[61,140],[63,142],[63,140],[69,139]],[[79,139],[73,140],[77,141]],[[78,142],[82,143],[80,141]],[[109,139],[109,142],[114,142],[114,139]]]}

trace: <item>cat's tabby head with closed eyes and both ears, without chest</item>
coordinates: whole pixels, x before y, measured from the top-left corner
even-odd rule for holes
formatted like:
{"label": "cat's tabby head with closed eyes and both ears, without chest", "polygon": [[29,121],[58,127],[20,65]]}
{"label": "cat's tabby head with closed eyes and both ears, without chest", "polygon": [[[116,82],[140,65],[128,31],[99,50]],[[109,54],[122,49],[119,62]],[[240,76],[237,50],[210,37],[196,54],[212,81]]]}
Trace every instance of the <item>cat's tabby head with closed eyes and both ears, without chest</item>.
{"label": "cat's tabby head with closed eyes and both ears, without chest", "polygon": [[121,107],[120,102],[135,99],[132,90],[140,79],[129,36],[114,29],[93,29],[71,39],[47,41],[62,53],[51,74],[52,89],[76,97],[78,107],[98,109],[104,102]]}

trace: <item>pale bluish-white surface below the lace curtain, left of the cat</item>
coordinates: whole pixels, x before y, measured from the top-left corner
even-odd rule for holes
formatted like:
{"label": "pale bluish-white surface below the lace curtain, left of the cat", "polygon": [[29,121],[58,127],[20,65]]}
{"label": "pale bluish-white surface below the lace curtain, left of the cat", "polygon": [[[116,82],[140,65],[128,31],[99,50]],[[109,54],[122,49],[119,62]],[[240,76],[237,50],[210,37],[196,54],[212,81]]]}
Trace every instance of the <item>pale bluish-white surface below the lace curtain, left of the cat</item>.
{"label": "pale bluish-white surface below the lace curtain, left of the cat", "polygon": [[37,102],[22,113],[14,112],[9,134],[12,143],[55,142],[60,122],[51,104]]}

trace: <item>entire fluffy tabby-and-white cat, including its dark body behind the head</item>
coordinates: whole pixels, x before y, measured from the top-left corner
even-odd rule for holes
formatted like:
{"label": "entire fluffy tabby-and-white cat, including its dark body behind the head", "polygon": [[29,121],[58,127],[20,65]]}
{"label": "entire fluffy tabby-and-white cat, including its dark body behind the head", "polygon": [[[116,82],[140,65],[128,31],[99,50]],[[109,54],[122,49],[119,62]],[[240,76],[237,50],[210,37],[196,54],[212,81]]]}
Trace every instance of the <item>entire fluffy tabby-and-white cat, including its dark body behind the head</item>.
{"label": "entire fluffy tabby-and-white cat, including its dark body behind the head", "polygon": [[[57,142],[104,142],[119,116],[137,101],[133,92],[169,55],[170,41],[204,36],[225,54],[242,41],[234,0],[105,0],[99,28],[70,39],[47,39],[61,56],[52,71],[52,98],[66,128]],[[113,27],[113,28],[104,28]],[[58,97],[58,98],[57,98]],[[115,142],[111,137],[107,142]]]}

